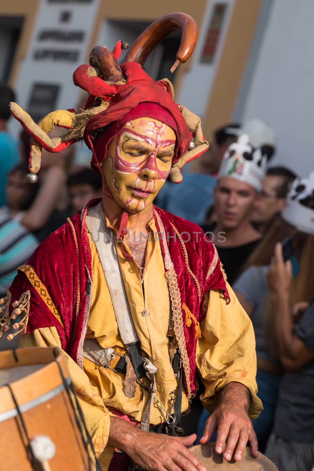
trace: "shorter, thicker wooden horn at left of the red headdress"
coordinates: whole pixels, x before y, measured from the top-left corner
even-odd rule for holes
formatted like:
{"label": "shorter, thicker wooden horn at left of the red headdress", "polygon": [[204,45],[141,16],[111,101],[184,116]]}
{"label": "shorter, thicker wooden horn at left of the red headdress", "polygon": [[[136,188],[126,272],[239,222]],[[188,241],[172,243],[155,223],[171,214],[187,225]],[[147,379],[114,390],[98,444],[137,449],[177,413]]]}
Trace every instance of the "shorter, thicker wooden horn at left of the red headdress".
{"label": "shorter, thicker wooden horn at left of the red headdress", "polygon": [[90,52],[89,64],[93,67],[100,67],[105,81],[117,83],[125,80],[125,75],[121,71],[113,53],[105,46],[96,46]]}

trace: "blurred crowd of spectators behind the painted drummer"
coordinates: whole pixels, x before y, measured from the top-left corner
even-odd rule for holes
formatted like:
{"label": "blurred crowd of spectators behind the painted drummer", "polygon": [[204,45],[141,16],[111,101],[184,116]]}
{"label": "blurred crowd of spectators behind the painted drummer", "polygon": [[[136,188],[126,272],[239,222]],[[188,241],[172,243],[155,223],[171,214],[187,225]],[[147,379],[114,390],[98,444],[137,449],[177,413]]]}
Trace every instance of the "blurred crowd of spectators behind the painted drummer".
{"label": "blurred crowd of spectators behind the painted drummer", "polygon": [[[15,101],[13,91],[0,87],[0,297],[37,245],[90,199],[102,195],[102,179],[90,169],[89,149],[83,145],[55,154],[43,151],[38,183],[27,183],[30,138],[25,131],[19,143],[10,136],[10,101]],[[50,137],[63,132],[56,128]],[[255,162],[260,187],[252,176],[237,178],[233,146],[243,134],[266,159],[265,168],[261,159]],[[215,131],[198,171],[185,173],[179,186],[166,182],[155,203],[201,226],[216,245],[227,280],[252,320],[258,395],[264,406],[253,420],[259,449],[282,470],[310,471],[314,466],[314,175],[298,179],[291,169],[272,165],[275,152],[275,133],[265,122],[226,124]],[[255,159],[250,152],[243,156]],[[299,204],[296,219],[291,217],[291,202]],[[201,393],[200,387],[198,398]],[[198,417],[199,430],[208,418],[200,400],[193,408],[194,414],[184,419],[187,434],[195,431]]]}

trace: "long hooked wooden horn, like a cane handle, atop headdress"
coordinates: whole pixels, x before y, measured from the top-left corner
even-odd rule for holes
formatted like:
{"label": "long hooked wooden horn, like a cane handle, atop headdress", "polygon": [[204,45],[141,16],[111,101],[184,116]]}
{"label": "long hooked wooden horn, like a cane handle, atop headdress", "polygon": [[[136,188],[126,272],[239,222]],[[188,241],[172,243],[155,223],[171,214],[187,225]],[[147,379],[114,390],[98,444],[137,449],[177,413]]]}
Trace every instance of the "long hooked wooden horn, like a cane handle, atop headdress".
{"label": "long hooked wooden horn, like a cane handle, atop headdress", "polygon": [[176,62],[171,67],[173,72],[180,62],[186,62],[191,56],[198,37],[195,20],[185,13],[170,13],[154,21],[142,32],[127,52],[123,63],[137,62],[144,65],[152,50],[170,33],[180,30],[181,43],[176,55]]}

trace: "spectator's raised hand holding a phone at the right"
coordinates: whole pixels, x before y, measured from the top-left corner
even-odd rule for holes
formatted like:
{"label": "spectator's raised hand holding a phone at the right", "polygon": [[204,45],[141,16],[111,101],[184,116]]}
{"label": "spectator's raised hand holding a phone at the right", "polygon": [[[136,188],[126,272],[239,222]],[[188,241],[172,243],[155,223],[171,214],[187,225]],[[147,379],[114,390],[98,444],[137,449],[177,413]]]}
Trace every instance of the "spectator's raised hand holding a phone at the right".
{"label": "spectator's raised hand holding a phone at the right", "polygon": [[290,260],[284,262],[280,242],[275,245],[274,256],[268,269],[267,281],[271,292],[289,294],[292,281],[292,265]]}

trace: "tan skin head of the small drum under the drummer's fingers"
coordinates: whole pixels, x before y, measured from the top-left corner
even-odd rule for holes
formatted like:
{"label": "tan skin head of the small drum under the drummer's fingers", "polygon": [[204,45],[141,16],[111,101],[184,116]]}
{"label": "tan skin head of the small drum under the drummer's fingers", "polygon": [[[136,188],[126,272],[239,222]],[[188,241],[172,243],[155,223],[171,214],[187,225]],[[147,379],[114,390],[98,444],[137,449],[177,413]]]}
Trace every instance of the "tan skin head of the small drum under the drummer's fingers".
{"label": "tan skin head of the small drum under the drummer's fingers", "polygon": [[261,453],[258,454],[258,458],[254,458],[250,447],[245,448],[241,461],[234,461],[233,458],[225,461],[222,454],[216,453],[215,445],[216,442],[209,442],[189,448],[208,471],[278,471],[274,463]]}

